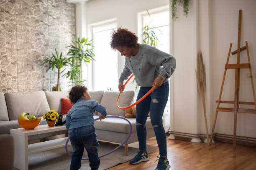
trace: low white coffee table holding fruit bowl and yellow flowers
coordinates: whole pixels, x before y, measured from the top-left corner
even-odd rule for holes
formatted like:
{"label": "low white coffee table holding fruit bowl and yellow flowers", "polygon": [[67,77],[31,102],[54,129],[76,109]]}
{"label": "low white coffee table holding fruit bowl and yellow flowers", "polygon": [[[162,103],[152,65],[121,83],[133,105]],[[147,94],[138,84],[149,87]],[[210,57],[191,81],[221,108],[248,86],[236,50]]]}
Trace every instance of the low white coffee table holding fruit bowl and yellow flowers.
{"label": "low white coffee table holding fruit bowl and yellow flowers", "polygon": [[[13,166],[20,170],[28,170],[28,154],[38,153],[44,150],[51,150],[60,148],[66,145],[67,138],[59,138],[55,140],[44,141],[40,143],[33,143],[28,145],[28,138],[33,136],[40,136],[40,134],[52,134],[54,132],[62,131],[67,133],[67,128],[63,126],[48,127],[48,125],[41,125],[35,129],[26,130],[23,128],[11,129],[10,135],[14,138],[14,163]],[[69,141],[70,145],[70,141]]]}

